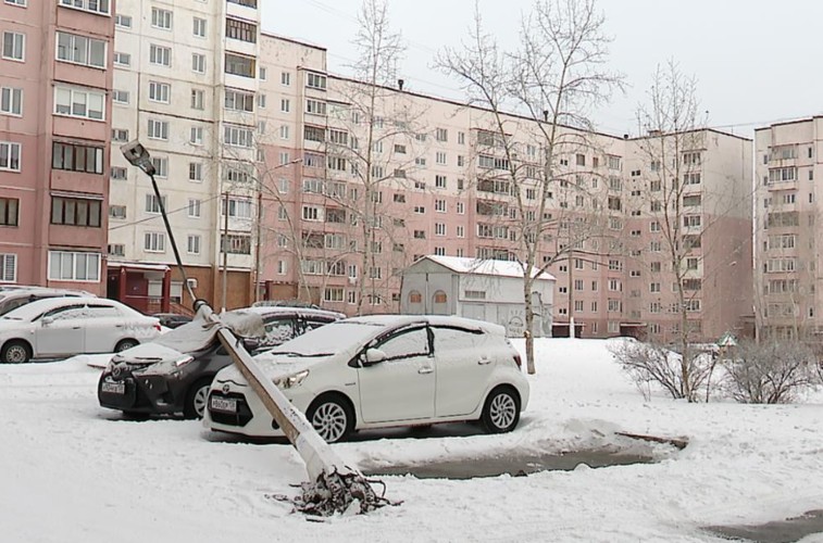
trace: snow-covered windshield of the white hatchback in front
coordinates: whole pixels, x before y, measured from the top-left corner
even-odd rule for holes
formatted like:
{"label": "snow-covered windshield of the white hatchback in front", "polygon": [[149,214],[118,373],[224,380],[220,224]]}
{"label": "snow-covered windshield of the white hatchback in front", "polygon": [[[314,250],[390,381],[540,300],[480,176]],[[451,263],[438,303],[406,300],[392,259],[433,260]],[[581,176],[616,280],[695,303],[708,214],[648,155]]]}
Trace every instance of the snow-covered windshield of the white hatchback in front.
{"label": "snow-covered windshield of the white hatchback in front", "polygon": [[287,341],[270,353],[290,356],[322,356],[359,345],[386,328],[382,323],[339,320]]}

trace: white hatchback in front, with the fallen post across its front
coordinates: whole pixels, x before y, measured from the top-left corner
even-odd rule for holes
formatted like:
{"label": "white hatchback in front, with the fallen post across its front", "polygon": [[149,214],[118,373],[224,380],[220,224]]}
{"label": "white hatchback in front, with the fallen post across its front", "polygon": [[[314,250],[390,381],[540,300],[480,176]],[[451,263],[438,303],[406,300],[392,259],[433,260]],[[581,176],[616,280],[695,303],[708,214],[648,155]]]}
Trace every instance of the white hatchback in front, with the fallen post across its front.
{"label": "white hatchback in front, with the fallen post across its front", "polygon": [[[528,403],[520,354],[503,327],[460,317],[338,320],[255,359],[329,443],[353,430],[459,420],[508,432]],[[235,366],[214,377],[204,425],[283,435]]]}

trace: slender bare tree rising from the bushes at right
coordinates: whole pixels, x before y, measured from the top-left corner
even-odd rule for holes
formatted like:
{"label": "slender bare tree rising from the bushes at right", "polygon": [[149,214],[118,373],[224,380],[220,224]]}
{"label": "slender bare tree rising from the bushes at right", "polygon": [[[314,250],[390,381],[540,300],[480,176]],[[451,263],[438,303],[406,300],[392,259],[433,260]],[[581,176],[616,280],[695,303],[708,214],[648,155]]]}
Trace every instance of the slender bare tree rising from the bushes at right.
{"label": "slender bare tree rising from the bushes at right", "polygon": [[[704,114],[699,111],[697,83],[685,76],[674,61],[656,72],[649,103],[638,110],[638,123],[644,136],[636,140],[634,149],[643,175],[633,177],[633,182],[643,185],[632,188],[639,194],[633,203],[643,210],[638,223],[648,224],[652,232],[652,250],[640,251],[650,255],[644,264],[653,278],[650,291],[657,293],[649,312],[674,317],[671,349],[681,355],[679,394],[694,402],[695,387],[699,384],[696,376],[704,371],[707,361],[694,352],[694,344],[703,341],[704,333],[702,321],[691,317],[708,308],[702,305],[706,283],[726,274],[724,266],[737,265],[738,260],[741,269],[748,266],[744,241],[730,238],[737,247],[710,244],[707,232],[721,228],[726,217],[739,213],[750,200],[748,192],[738,192],[734,182],[707,188],[703,161],[710,134]],[[724,238],[720,232],[715,236]],[[654,256],[657,253],[662,257]],[[707,265],[710,256],[713,269]],[[716,264],[719,261],[722,264]],[[670,283],[672,294],[668,293]]]}

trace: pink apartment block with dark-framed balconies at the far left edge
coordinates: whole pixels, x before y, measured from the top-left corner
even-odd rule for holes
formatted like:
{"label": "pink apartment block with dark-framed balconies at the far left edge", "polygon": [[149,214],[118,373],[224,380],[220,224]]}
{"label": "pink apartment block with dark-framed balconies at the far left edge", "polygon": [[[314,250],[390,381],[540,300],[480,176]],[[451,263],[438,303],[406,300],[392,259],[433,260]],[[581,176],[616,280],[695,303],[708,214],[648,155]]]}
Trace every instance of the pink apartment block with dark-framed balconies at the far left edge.
{"label": "pink apartment block with dark-framed balconies at the far left edge", "polygon": [[114,9],[0,4],[0,283],[105,293]]}

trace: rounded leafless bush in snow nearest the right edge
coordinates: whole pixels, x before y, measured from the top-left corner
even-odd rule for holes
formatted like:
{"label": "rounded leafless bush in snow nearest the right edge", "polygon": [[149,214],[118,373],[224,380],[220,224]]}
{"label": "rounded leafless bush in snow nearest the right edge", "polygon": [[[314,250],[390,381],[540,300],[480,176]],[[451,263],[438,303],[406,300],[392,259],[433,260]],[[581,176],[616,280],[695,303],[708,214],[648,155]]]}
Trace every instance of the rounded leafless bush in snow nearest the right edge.
{"label": "rounded leafless bush in snow nearest the right edge", "polygon": [[798,341],[745,341],[722,364],[724,389],[740,403],[790,403],[821,379],[814,353]]}

